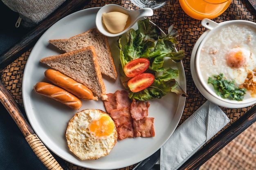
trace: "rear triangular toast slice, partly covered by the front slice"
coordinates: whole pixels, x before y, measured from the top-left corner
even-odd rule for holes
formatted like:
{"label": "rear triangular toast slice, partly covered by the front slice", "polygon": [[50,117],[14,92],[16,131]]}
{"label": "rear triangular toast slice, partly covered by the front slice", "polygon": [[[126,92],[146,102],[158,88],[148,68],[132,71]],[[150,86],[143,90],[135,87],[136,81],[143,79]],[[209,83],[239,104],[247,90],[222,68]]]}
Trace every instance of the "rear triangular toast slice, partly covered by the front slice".
{"label": "rear triangular toast slice, partly covered by the front slice", "polygon": [[117,71],[110,52],[108,39],[99,33],[97,29],[90,29],[69,39],[49,40],[49,43],[65,52],[75,51],[86,46],[94,46],[101,73],[111,79],[117,79]]}

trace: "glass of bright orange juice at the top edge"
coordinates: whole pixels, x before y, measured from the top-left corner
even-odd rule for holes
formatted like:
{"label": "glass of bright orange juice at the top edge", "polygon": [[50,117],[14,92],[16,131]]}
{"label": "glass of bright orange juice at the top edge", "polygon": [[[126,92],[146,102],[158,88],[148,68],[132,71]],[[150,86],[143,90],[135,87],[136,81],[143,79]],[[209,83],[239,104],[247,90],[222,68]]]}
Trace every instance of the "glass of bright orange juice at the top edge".
{"label": "glass of bright orange juice at the top edge", "polygon": [[197,20],[213,19],[221,15],[232,0],[179,0],[183,11]]}

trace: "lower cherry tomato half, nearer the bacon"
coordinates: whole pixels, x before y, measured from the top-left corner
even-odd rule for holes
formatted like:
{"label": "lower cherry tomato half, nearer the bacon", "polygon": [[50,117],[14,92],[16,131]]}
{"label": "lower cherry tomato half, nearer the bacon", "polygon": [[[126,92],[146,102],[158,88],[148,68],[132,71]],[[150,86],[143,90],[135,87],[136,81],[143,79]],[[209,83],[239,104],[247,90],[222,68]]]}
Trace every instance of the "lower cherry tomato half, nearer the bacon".
{"label": "lower cherry tomato half, nearer the bacon", "polygon": [[155,76],[151,73],[142,73],[128,81],[130,91],[136,93],[149,87],[155,81]]}

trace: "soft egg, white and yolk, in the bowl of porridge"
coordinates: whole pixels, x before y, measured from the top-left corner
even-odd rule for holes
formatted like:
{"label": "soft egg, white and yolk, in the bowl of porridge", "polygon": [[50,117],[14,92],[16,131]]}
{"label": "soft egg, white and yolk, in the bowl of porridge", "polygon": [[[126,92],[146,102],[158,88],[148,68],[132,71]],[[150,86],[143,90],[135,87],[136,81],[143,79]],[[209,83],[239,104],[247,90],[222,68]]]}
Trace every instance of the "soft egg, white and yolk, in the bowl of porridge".
{"label": "soft egg, white and yolk, in the bowl of porridge", "polygon": [[235,47],[226,56],[228,73],[236,84],[245,82],[248,71],[256,67],[255,55],[248,46]]}

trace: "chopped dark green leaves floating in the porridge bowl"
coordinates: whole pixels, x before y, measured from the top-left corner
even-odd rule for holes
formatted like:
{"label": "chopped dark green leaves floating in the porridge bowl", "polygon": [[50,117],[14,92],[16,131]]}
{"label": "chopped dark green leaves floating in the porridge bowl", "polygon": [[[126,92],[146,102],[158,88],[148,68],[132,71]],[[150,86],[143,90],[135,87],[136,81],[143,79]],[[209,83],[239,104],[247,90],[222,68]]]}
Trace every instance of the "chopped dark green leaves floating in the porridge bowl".
{"label": "chopped dark green leaves floating in the porridge bowl", "polygon": [[208,84],[212,84],[216,94],[224,99],[242,101],[246,93],[245,88],[238,88],[234,85],[235,80],[222,79],[224,75],[213,75],[208,78]]}

